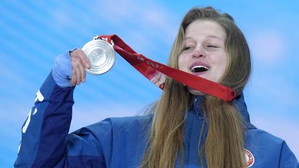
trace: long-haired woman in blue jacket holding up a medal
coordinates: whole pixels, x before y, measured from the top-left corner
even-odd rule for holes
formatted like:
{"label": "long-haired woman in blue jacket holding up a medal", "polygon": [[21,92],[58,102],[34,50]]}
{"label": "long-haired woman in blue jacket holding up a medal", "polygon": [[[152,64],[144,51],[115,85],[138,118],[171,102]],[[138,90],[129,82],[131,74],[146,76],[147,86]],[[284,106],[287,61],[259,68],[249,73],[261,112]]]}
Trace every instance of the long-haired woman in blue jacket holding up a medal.
{"label": "long-haired woman in blue jacket holding up a medal", "polygon": [[74,85],[90,68],[82,50],[59,56],[22,129],[16,167],[298,167],[286,143],[249,120],[242,90],[247,41],[212,7],[183,18],[168,65],[235,90],[232,102],[166,78],[145,116],[107,118],[68,134]]}

